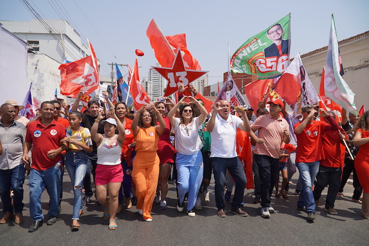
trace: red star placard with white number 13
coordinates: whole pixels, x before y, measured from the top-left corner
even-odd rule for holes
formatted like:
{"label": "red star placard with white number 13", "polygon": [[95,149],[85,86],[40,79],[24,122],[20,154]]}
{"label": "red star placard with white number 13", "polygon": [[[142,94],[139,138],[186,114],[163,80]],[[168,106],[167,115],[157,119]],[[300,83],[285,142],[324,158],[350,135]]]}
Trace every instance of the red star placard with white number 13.
{"label": "red star placard with white number 13", "polygon": [[178,48],[176,57],[172,68],[167,67],[152,67],[165,79],[168,80],[167,90],[164,94],[165,97],[178,91],[177,86],[183,83],[184,87],[188,87],[189,83],[200,78],[209,71],[187,70],[184,68],[182,55],[180,55],[181,49]]}

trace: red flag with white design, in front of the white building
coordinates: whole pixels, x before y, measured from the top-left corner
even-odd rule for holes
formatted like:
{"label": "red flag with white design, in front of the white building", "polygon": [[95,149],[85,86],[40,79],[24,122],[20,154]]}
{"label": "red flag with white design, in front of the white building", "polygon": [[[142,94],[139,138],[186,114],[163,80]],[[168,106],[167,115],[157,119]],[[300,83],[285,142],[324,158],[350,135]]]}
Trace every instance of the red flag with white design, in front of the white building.
{"label": "red flag with white design, in front of the white building", "polygon": [[60,65],[61,94],[76,98],[82,87],[85,87],[85,94],[91,94],[99,88],[99,77],[93,63],[92,56],[89,55],[83,59]]}

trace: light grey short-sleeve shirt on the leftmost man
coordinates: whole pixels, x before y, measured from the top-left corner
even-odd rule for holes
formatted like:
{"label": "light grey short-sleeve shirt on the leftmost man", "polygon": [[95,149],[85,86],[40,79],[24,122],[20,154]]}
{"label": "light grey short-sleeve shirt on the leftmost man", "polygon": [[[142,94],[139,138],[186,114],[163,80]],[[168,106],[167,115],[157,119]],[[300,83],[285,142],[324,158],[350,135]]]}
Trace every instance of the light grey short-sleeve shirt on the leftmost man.
{"label": "light grey short-sleeve shirt on the leftmost man", "polygon": [[0,156],[0,170],[8,170],[17,167],[22,162],[23,143],[26,136],[26,127],[18,122],[5,129],[0,120],[0,140],[3,153]]}

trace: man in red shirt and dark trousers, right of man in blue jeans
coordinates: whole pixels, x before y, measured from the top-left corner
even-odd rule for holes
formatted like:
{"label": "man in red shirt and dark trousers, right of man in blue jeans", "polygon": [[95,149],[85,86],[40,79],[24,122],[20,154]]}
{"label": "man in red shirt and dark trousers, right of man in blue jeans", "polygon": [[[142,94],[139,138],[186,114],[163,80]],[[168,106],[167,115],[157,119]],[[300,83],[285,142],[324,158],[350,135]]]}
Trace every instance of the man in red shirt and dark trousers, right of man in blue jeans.
{"label": "man in red shirt and dark trousers, right of man in blue jeans", "polygon": [[[327,112],[333,119],[336,120],[336,115],[333,111]],[[324,118],[325,122],[327,118]],[[344,146],[342,139],[345,139],[342,128],[338,131],[328,131],[322,134],[322,146],[324,149],[325,159],[320,160],[319,172],[316,176],[317,182],[313,191],[315,204],[319,206],[319,198],[324,188],[329,185],[327,199],[325,201],[325,211],[331,215],[337,215],[334,209],[336,194],[341,184],[341,170],[344,162]]]}

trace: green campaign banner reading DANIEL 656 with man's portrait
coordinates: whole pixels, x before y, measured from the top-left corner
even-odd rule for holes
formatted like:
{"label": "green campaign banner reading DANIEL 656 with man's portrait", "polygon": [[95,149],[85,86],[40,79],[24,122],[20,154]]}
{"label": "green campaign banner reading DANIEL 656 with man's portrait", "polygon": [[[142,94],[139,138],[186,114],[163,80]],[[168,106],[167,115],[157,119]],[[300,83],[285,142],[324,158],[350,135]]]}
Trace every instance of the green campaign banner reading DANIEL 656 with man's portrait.
{"label": "green campaign banner reading DANIEL 656 with man's portrait", "polygon": [[289,64],[290,15],[247,39],[231,56],[232,71],[260,78],[273,78],[283,73]]}

